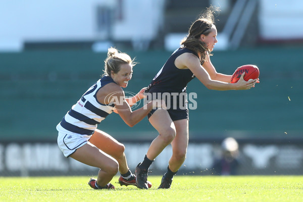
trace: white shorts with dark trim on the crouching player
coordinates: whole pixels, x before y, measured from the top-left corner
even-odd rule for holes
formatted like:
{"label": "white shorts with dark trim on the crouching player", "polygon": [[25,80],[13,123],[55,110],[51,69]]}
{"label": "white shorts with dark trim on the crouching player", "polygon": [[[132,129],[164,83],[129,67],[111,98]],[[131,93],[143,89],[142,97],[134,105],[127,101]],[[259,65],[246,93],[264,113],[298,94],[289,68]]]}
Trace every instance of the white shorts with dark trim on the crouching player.
{"label": "white shorts with dark trim on the crouching player", "polygon": [[58,132],[58,146],[62,150],[65,157],[69,157],[73,154],[77,148],[80,148],[87,143],[91,135],[80,135],[80,134],[68,134]]}

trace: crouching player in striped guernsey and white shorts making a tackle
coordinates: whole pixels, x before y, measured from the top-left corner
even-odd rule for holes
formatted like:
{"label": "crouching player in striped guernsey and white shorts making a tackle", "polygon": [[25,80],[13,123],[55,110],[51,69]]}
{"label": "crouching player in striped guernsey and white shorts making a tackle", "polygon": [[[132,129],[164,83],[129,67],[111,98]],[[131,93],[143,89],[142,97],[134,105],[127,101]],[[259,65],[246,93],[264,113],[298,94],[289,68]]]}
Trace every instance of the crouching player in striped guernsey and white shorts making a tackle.
{"label": "crouching player in striped guernsey and white shorts making a tackle", "polygon": [[[109,134],[98,130],[97,125],[113,111],[129,126],[141,121],[157,105],[164,102],[151,101],[133,111],[132,104],[143,98],[145,88],[135,96],[125,98],[122,88],[132,77],[133,60],[115,48],[109,48],[105,60],[105,74],[92,85],[57,125],[58,145],[65,157],[99,168],[97,179],[90,179],[94,189],[113,189],[109,183],[119,171],[120,185],[136,185],[135,175],[128,168],[124,145]],[[151,187],[150,182],[147,182]]]}

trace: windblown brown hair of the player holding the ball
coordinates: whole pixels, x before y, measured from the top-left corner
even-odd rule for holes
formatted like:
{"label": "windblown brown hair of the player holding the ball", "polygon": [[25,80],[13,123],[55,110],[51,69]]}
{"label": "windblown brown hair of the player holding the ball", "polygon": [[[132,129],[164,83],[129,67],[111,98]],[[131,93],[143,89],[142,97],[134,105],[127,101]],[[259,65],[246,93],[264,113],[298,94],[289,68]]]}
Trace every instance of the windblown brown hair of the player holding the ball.
{"label": "windblown brown hair of the player holding the ball", "polygon": [[214,13],[219,12],[220,10],[216,7],[210,6],[205,10],[199,18],[194,21],[185,38],[181,40],[181,46],[187,47],[194,53],[200,56],[200,62],[203,63],[207,53],[210,53],[207,44],[199,40],[201,34],[208,35],[211,32],[211,28],[215,25]]}

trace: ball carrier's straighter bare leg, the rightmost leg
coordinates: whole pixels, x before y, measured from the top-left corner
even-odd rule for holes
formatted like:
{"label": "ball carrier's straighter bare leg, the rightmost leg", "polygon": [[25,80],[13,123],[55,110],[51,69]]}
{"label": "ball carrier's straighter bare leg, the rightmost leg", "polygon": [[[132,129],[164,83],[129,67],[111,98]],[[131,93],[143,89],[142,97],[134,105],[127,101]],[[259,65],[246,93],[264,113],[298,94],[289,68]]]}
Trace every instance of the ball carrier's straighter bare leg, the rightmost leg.
{"label": "ball carrier's straighter bare leg, the rightmost leg", "polygon": [[174,124],[176,126],[177,134],[171,143],[173,154],[169,160],[169,169],[172,172],[177,172],[186,158],[188,146],[188,120],[182,119],[174,121]]}

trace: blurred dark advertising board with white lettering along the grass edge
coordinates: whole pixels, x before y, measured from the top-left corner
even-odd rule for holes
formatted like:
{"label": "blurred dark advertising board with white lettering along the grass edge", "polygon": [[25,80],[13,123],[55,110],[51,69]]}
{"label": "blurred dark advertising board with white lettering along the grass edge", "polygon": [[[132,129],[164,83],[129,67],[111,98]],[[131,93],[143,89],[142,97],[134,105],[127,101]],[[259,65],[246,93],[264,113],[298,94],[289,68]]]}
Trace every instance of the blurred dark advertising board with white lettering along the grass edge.
{"label": "blurred dark advertising board with white lettering along the grass edge", "polygon": [[[221,141],[190,141],[187,158],[177,175],[302,175],[302,141],[239,141],[233,159]],[[132,171],[142,161],[150,142],[123,142],[127,163]],[[169,145],[151,165],[153,173],[166,172],[172,148]],[[0,143],[0,176],[95,176],[97,168],[65,158],[56,142]]]}

